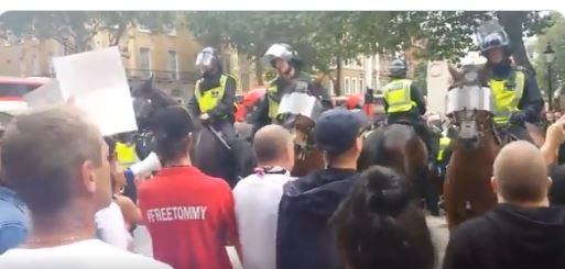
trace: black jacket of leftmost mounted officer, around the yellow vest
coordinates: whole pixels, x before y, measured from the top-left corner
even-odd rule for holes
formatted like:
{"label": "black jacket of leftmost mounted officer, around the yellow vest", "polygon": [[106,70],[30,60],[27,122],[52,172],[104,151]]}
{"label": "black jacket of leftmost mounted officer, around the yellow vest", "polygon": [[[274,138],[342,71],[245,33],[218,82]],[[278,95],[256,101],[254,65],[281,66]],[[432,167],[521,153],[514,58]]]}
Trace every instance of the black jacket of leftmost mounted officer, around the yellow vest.
{"label": "black jacket of leftmost mounted officer, around the yellow vest", "polygon": [[[221,77],[221,71],[213,75],[205,74],[202,78],[200,82],[200,91],[204,93],[207,90],[214,89],[219,86],[219,80]],[[233,121],[233,104],[236,102],[236,80],[232,77],[228,76],[226,80],[226,89],[224,92],[224,97],[221,98],[218,105],[208,112],[211,119],[215,121],[221,121],[225,115],[228,115],[229,121]],[[200,115],[200,109],[198,108],[198,101],[196,101],[196,96],[193,96],[188,101],[188,110],[194,116]]]}

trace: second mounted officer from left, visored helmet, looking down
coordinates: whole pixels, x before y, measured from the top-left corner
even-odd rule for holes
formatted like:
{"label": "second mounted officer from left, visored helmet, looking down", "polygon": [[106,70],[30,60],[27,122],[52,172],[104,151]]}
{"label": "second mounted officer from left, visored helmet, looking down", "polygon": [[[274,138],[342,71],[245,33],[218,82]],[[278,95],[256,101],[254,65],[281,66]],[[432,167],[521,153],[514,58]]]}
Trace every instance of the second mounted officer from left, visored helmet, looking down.
{"label": "second mounted officer from left, visored helmet, looking down", "polygon": [[279,104],[282,97],[296,91],[300,85],[306,86],[309,94],[318,98],[325,109],[332,108],[326,89],[314,86],[312,77],[302,72],[303,63],[298,53],[290,45],[284,43],[271,45],[264,54],[263,60],[276,70],[278,76],[269,82],[265,96],[259,101],[253,116],[253,134],[264,125],[281,121]]}

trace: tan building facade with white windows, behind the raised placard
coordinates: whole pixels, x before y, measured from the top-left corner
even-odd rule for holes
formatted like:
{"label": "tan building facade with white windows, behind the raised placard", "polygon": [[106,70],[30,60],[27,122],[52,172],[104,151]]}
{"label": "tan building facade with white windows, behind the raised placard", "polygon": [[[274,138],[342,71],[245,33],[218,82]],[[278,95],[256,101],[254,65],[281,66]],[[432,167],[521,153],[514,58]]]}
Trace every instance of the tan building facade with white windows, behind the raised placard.
{"label": "tan building facade with white windows, behind the raised placard", "polygon": [[[90,48],[108,47],[110,40],[111,35],[102,31],[93,37]],[[182,101],[192,97],[200,76],[195,61],[203,45],[186,27],[154,33],[143,26],[130,26],[121,35],[118,45],[131,87],[153,76],[159,89]],[[238,57],[237,52],[230,48],[224,48],[222,52],[225,70],[238,78],[238,91],[247,90],[254,77],[239,79],[241,74],[243,77],[253,74],[249,65],[240,65],[240,61],[246,61],[246,57]],[[54,40],[28,38],[17,44],[4,42],[0,46],[0,76],[53,77],[53,58],[64,55],[64,45]]]}

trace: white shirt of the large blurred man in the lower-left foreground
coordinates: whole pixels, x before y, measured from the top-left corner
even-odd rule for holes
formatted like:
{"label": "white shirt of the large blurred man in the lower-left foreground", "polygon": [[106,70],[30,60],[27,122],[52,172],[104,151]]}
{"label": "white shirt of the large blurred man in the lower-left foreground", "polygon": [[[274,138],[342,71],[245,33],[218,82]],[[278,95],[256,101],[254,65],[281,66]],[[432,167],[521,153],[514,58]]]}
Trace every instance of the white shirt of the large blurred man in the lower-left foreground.
{"label": "white shirt of the large blurred man in the lower-left foreground", "polygon": [[172,269],[152,258],[132,254],[99,239],[46,248],[12,248],[0,256],[0,268],[10,269]]}

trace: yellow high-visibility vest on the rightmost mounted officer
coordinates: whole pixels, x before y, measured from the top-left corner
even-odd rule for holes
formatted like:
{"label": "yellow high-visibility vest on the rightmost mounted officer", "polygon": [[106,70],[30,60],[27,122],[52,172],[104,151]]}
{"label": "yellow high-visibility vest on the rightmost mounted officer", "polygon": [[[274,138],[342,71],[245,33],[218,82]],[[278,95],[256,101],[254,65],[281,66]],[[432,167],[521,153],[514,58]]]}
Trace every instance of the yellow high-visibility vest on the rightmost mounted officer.
{"label": "yellow high-visibility vest on the rightmost mounted officer", "polygon": [[495,94],[495,123],[506,124],[510,114],[519,111],[518,103],[525,88],[525,74],[515,70],[507,79],[490,79],[489,86]]}

